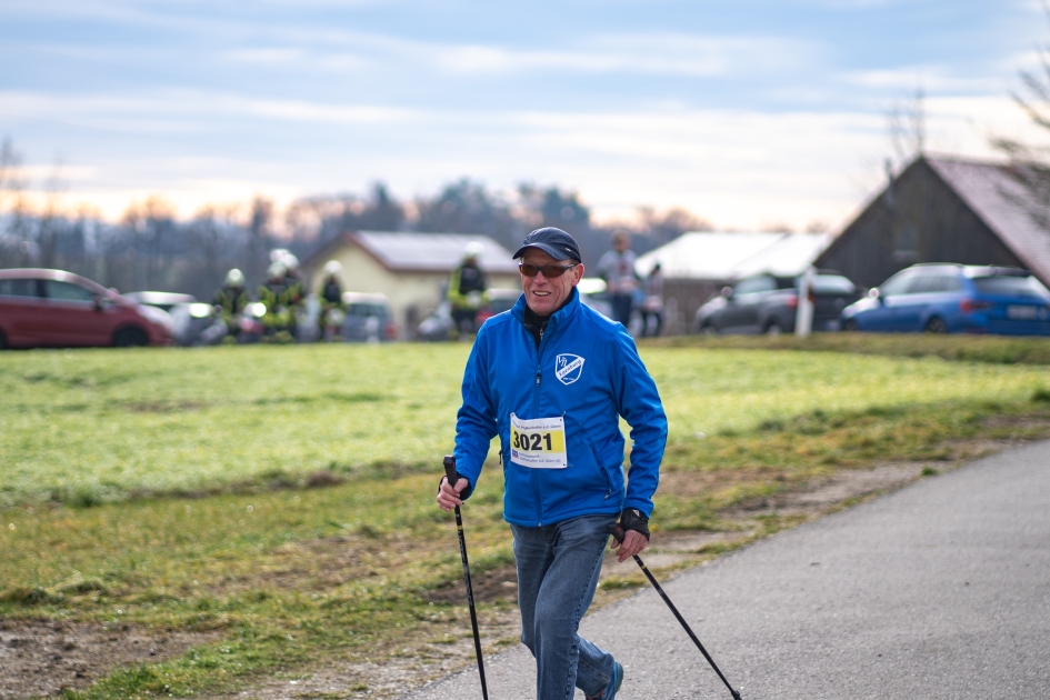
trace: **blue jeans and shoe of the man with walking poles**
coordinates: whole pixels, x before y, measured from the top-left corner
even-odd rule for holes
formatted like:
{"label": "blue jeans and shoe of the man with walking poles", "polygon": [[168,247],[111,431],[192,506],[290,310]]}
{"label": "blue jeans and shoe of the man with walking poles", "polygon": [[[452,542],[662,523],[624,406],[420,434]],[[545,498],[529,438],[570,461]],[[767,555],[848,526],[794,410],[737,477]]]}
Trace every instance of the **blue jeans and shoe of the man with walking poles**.
{"label": "blue jeans and shoe of the man with walking poles", "polygon": [[612,678],[612,654],[577,633],[587,612],[608,526],[617,516],[583,516],[541,528],[511,524],[518,563],[521,642],[536,658],[539,700],[597,697]]}

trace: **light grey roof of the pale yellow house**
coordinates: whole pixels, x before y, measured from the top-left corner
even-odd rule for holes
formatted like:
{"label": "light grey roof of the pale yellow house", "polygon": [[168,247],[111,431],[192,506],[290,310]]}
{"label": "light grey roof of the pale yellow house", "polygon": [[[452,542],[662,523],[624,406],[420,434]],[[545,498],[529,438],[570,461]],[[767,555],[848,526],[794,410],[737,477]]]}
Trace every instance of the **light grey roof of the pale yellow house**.
{"label": "light grey roof of the pale yellow house", "polygon": [[342,246],[357,246],[391,272],[451,272],[463,259],[467,243],[481,243],[479,263],[488,273],[517,274],[518,263],[506,248],[488,236],[469,233],[407,233],[348,231],[329,241],[303,263],[323,264]]}

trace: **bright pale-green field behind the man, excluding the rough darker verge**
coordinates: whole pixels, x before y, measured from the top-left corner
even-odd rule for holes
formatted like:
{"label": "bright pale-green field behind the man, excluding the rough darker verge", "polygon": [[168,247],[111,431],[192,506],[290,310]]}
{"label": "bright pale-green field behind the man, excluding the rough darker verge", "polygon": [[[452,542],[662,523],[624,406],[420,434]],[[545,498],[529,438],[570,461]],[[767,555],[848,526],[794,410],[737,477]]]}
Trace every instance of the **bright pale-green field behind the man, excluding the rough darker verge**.
{"label": "bright pale-green field behind the man, excluding the rough darker verge", "polygon": [[[433,471],[464,346],[251,347],[0,356],[0,506],[91,504],[310,474]],[[828,413],[1050,388],[1039,366],[938,357],[643,350],[670,441]]]}

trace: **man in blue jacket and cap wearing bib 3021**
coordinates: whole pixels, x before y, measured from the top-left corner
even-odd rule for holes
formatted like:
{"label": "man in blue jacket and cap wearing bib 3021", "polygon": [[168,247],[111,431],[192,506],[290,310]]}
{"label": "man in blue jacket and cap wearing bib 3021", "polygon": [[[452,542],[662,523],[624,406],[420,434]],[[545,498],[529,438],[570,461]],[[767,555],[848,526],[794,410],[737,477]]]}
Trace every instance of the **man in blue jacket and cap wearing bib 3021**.
{"label": "man in blue jacket and cap wearing bib 3021", "polygon": [[[580,249],[560,229],[533,231],[514,253],[523,294],[490,318],[463,373],[451,510],[478,483],[500,437],[503,518],[514,536],[521,641],[536,658],[540,700],[574,688],[613,700],[623,668],[577,630],[598,586],[609,526],[627,531],[619,560],[649,542],[648,520],[667,441],[657,387],[624,328],[580,303]],[[624,490],[618,417],[631,426]]]}

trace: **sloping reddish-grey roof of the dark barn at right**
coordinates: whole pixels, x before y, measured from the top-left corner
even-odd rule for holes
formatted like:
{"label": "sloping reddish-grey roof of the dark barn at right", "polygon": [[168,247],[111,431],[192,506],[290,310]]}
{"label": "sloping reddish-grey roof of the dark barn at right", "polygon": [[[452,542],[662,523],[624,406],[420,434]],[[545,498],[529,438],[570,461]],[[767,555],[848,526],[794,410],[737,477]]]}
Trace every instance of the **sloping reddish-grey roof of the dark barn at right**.
{"label": "sloping reddish-grey roof of the dark barn at right", "polygon": [[1011,174],[1009,166],[924,157],[929,166],[1038,278],[1050,283],[1050,230],[1033,211],[1046,212]]}

